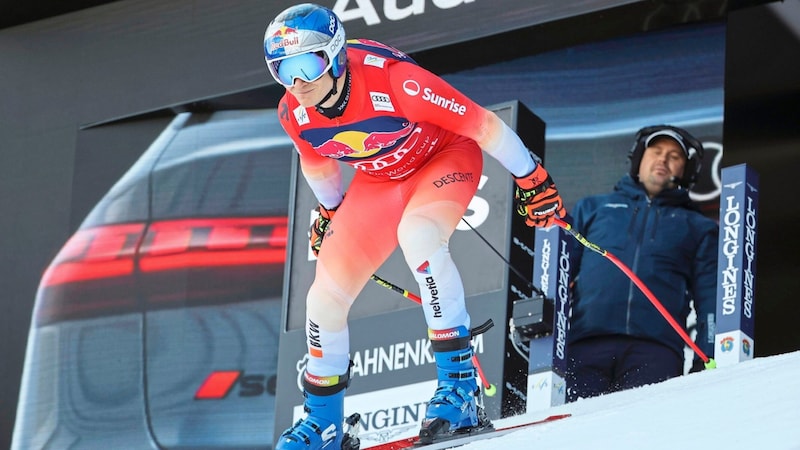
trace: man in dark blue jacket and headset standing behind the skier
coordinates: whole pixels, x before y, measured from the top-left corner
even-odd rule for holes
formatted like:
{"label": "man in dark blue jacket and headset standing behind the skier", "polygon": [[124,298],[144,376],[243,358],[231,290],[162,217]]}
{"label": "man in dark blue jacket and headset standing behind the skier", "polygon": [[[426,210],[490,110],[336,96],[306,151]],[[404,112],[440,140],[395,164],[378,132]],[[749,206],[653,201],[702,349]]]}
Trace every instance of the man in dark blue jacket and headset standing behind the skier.
{"label": "man in dark blue jacket and headset standing behind the skier", "polygon": [[[694,301],[696,343],[712,356],[718,226],[688,193],[703,146],[686,130],[657,125],[639,130],[628,156],[630,174],[613,192],[579,200],[573,227],[636,273],[678,323]],[[682,375],[681,337],[611,261],[576,250],[567,401]]]}

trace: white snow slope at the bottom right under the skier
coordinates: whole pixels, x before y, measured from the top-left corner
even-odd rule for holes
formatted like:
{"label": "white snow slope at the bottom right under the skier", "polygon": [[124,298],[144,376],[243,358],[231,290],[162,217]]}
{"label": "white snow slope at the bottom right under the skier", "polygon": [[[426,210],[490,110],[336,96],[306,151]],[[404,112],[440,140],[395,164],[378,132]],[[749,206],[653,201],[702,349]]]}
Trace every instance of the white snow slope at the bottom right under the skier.
{"label": "white snow slope at the bottom right under the skier", "polygon": [[572,417],[460,449],[800,449],[800,352],[494,422],[504,426],[563,413]]}

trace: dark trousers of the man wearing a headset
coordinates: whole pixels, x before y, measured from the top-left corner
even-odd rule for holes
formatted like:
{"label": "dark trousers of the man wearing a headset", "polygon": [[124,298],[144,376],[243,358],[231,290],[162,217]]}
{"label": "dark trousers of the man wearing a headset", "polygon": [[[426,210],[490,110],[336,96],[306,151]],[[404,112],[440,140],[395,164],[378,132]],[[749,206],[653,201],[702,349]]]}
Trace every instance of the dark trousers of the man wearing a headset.
{"label": "dark trousers of the man wearing a headset", "polygon": [[567,346],[567,402],[683,374],[683,355],[658,342],[599,336]]}

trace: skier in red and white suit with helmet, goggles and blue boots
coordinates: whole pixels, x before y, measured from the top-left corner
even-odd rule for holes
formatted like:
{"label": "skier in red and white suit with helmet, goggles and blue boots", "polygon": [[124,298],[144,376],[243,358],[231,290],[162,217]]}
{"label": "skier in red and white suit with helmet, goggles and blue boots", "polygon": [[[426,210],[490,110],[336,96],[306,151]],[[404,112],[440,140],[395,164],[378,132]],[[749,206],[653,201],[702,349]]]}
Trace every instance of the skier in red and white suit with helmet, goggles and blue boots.
{"label": "skier in red and white suit with helmet, goggles and blue boots", "polygon": [[[552,178],[496,114],[397,49],[346,41],[328,8],[306,3],[278,14],[264,52],[270,74],[286,88],[281,124],[319,201],[310,231],[318,259],[306,298],[306,416],[276,449],[347,447],[348,311],[398,245],[420,286],[437,366],[422,426],[486,425],[476,404],[470,316],[448,240],[478,188],[481,149],[514,175],[517,211],[530,226],[550,226],[565,214]],[[356,169],[347,195],[339,162]]]}

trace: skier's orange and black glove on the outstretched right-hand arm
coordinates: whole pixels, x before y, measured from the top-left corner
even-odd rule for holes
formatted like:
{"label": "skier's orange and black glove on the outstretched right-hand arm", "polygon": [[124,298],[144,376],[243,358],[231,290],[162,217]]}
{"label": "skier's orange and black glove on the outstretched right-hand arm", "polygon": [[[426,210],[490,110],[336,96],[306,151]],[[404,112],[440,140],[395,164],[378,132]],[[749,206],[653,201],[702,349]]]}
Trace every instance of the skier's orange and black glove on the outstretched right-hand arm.
{"label": "skier's orange and black glove on the outstretched right-hand arm", "polygon": [[529,175],[514,178],[517,213],[531,227],[549,227],[555,216],[564,217],[564,202],[556,184],[541,164]]}

